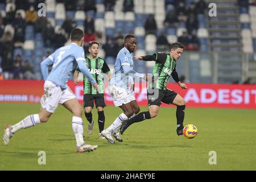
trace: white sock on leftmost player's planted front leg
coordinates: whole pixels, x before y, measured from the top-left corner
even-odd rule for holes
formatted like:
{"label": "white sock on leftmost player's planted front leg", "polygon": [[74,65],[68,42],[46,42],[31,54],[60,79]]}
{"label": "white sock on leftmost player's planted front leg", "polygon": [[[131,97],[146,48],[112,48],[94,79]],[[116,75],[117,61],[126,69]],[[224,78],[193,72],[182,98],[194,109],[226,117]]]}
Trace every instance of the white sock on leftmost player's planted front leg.
{"label": "white sock on leftmost player's planted front leg", "polygon": [[82,126],[82,118],[73,116],[72,128],[76,137],[76,146],[80,147],[84,144],[84,127]]}

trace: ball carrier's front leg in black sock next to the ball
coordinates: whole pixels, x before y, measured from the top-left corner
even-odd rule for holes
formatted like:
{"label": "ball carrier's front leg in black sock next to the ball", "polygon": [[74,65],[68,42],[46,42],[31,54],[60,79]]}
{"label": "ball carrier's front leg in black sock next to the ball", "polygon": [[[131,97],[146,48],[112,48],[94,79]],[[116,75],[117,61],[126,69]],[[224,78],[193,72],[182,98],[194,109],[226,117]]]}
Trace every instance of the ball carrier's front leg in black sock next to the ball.
{"label": "ball carrier's front leg in black sock next to the ball", "polygon": [[185,117],[185,100],[177,94],[172,104],[177,106],[176,118],[177,118],[177,135],[183,135],[183,122]]}

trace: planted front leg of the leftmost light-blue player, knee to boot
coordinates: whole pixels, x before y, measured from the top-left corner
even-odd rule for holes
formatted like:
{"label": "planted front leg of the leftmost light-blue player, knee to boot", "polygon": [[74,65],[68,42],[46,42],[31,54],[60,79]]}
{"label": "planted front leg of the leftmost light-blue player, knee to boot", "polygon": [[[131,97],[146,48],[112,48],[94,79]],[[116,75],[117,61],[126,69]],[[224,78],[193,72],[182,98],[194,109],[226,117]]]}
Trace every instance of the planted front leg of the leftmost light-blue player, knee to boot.
{"label": "planted front leg of the leftmost light-blue player, knee to boot", "polygon": [[82,108],[77,100],[77,98],[73,98],[71,100],[65,101],[63,106],[66,107],[69,111],[72,112],[72,128],[76,137],[76,146],[77,152],[86,152],[93,151],[98,146],[91,146],[84,142],[84,128],[82,122]]}

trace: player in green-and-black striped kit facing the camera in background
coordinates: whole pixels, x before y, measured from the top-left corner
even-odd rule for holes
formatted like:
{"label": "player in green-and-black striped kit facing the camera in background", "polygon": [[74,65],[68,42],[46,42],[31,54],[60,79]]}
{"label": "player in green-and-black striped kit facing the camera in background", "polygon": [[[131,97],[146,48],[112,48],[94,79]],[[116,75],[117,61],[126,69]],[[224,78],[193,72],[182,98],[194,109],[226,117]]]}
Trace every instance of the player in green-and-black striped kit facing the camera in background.
{"label": "player in green-and-black striped kit facing the camera in background", "polygon": [[[84,109],[85,109],[85,118],[88,120],[88,130],[89,135],[92,134],[94,121],[92,119],[92,108],[95,105],[98,111],[98,129],[100,130],[99,138],[104,138],[101,134],[101,131],[104,130],[105,115],[104,107],[106,106],[104,101],[104,76],[102,73],[106,73],[106,77],[110,80],[110,69],[106,64],[104,59],[98,57],[100,43],[97,41],[89,42],[89,52],[90,55],[86,56],[85,64],[92,74],[93,78],[98,84],[98,90],[93,88],[92,84],[87,77],[84,77]],[[74,73],[74,82],[77,84],[78,76],[80,70],[77,69]]]}

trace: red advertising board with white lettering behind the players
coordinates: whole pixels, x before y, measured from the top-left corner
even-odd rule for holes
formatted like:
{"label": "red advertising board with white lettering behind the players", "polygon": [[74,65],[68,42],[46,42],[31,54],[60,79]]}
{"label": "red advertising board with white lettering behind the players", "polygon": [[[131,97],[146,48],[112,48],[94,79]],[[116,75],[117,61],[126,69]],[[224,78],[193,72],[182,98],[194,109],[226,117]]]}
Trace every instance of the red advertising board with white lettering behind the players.
{"label": "red advertising board with white lettering behind the players", "polygon": [[[3,80],[0,81],[0,103],[23,102],[38,103],[43,94],[43,81]],[[82,82],[74,85],[68,82],[69,87],[76,94],[80,103],[83,99]],[[168,88],[179,93],[189,107],[220,107],[220,108],[250,108],[256,109],[256,85],[238,84],[187,84],[183,90],[177,84],[170,83]],[[113,105],[108,93],[108,84],[105,86],[105,102]],[[147,105],[147,86],[145,83],[135,85],[135,97],[139,105]],[[162,104],[162,106],[171,106]]]}

